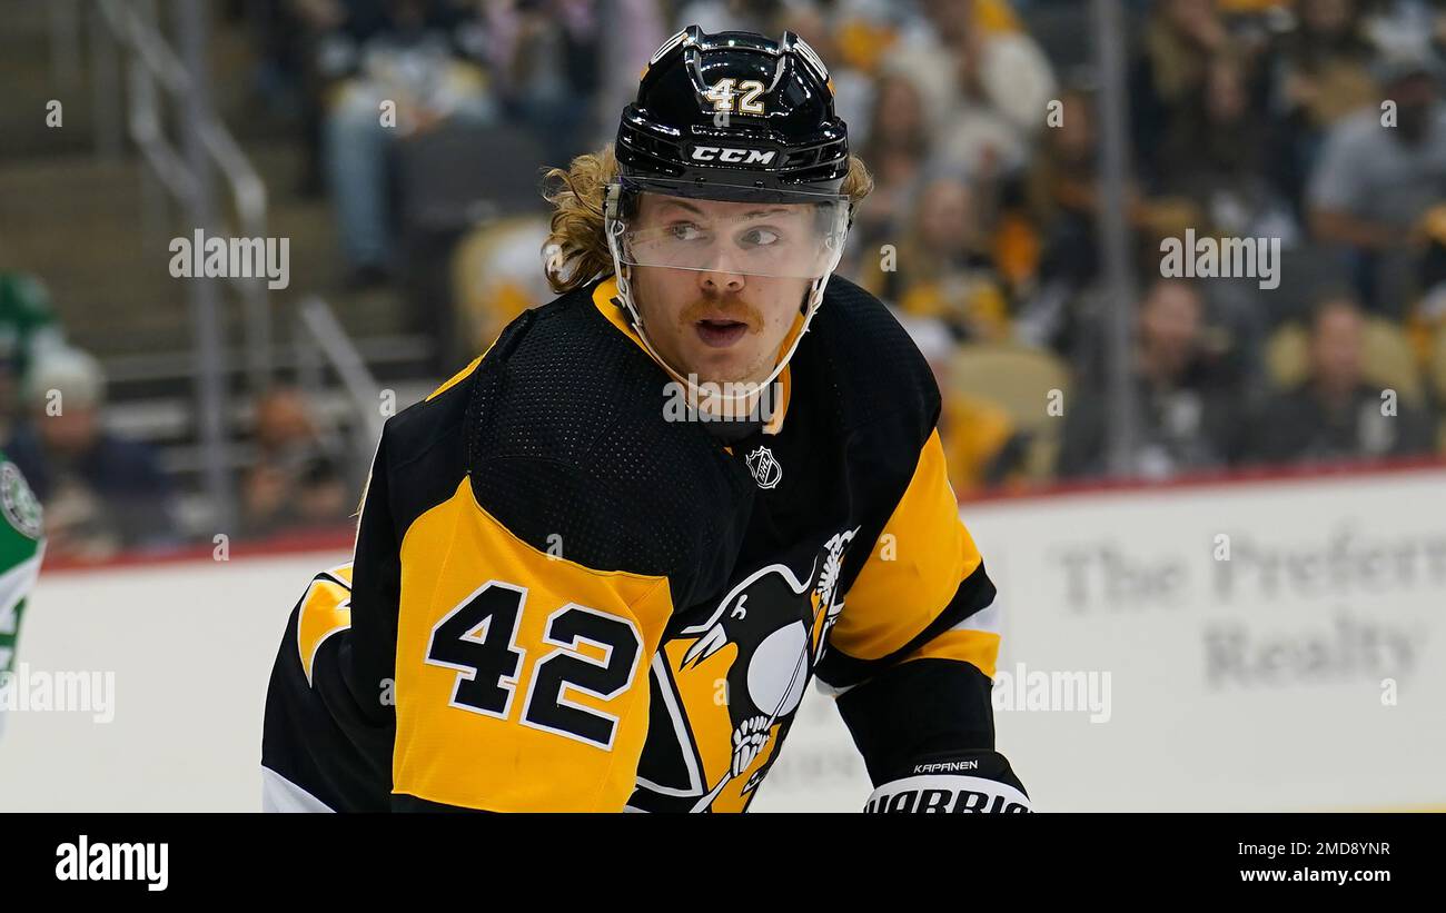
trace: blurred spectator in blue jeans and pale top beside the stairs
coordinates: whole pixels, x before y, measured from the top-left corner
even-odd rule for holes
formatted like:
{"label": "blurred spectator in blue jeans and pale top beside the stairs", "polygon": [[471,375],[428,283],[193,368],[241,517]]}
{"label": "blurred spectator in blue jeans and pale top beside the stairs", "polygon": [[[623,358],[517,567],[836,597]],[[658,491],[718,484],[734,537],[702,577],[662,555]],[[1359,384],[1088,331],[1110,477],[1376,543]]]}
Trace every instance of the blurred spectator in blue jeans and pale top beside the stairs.
{"label": "blurred spectator in blue jeans and pale top beside the stairs", "polygon": [[450,118],[489,123],[496,104],[479,66],[473,16],[444,0],[353,0],[320,43],[334,81],[322,129],[331,199],[348,282],[385,280],[395,269],[389,192],[393,142]]}

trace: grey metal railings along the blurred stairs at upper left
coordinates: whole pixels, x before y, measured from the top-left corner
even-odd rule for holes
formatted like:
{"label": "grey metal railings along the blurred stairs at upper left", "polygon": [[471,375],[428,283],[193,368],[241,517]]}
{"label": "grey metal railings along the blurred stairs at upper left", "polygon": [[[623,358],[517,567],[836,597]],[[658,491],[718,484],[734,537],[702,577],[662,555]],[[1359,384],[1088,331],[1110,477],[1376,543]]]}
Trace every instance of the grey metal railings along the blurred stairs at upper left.
{"label": "grey metal railings along the blurred stairs at upper left", "polygon": [[[67,0],[59,3],[65,6]],[[156,6],[156,0],[95,0],[90,7],[94,10],[88,27],[97,156],[117,159],[121,155],[124,123],[124,134],[145,163],[147,186],[142,224],[152,235],[171,234],[172,208],[179,209],[192,228],[201,228],[210,237],[230,234],[218,231],[223,217],[217,214],[211,194],[211,175],[215,173],[228,191],[239,233],[265,240],[266,185],[211,108],[205,66],[208,22],[205,10],[198,9],[204,4],[181,0],[172,7],[179,52],[159,27]],[[74,9],[52,14],[51,26],[59,36],[52,46],[74,43]],[[69,64],[58,61],[54,69],[56,74],[68,72]],[[187,283],[195,328],[194,351],[187,361],[197,378],[200,468],[207,501],[213,522],[224,527],[236,517],[233,471],[237,454],[227,441],[227,416],[234,412],[227,403],[228,378],[233,376],[228,361],[234,355],[224,339],[217,285]],[[330,449],[338,451],[343,458],[350,456],[354,465],[348,468],[364,477],[370,468],[366,461],[382,432],[382,390],[335,313],[321,298],[308,298],[296,309],[292,348],[276,350],[266,279],[231,277],[228,286],[243,306],[240,360],[249,389],[253,393],[265,390],[281,363],[286,363],[285,367],[296,370],[301,387],[315,397],[325,386],[330,367],[354,420],[348,429],[350,441],[335,416],[322,423],[321,432]],[[185,367],[174,354],[156,352],[147,358],[149,368],[137,376],[175,376]]]}

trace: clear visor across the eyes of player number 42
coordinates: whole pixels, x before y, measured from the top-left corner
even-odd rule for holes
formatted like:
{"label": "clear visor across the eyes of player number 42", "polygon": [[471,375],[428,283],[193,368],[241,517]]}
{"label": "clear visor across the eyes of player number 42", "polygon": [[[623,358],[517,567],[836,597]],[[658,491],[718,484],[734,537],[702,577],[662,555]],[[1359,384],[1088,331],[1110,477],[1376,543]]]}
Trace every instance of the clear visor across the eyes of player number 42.
{"label": "clear visor across the eyes of player number 42", "polygon": [[[709,198],[696,194],[707,192]],[[607,224],[630,266],[818,279],[839,260],[849,199],[685,182],[625,183]],[[724,196],[724,198],[719,198]]]}

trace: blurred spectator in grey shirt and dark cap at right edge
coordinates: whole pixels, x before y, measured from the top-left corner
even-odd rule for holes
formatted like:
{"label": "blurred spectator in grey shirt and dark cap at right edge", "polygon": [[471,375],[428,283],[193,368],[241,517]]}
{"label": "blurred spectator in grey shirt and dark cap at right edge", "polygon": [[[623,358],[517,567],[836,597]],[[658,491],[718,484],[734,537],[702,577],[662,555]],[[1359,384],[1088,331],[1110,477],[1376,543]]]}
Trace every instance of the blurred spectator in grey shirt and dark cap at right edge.
{"label": "blurred spectator in grey shirt and dark cap at right edge", "polygon": [[1387,58],[1381,74],[1391,107],[1368,107],[1330,130],[1310,178],[1310,225],[1319,241],[1355,256],[1369,309],[1401,318],[1413,233],[1446,195],[1446,104],[1437,97],[1439,68],[1426,55]]}

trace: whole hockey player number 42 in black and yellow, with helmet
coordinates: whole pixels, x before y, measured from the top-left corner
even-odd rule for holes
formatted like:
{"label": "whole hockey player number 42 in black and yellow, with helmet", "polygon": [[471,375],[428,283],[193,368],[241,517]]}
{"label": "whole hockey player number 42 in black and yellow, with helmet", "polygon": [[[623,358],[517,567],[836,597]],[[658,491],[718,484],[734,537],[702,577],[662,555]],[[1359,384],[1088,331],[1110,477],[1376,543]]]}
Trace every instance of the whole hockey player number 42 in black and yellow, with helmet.
{"label": "whole hockey player number 42 in black and yellow, with helmet", "polygon": [[743,810],[817,679],[870,810],[1028,810],[938,390],[830,279],[869,189],[831,91],[791,33],[690,27],[552,172],[562,295],[386,423],[276,659],[266,808]]}

